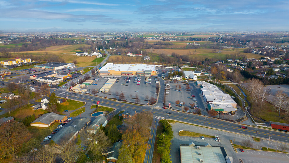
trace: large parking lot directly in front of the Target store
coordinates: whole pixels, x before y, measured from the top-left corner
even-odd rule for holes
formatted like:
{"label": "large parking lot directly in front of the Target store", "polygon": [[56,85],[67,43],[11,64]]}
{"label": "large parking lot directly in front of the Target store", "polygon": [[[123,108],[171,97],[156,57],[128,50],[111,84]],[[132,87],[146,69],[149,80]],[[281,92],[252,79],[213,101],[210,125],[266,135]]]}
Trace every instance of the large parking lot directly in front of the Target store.
{"label": "large parking lot directly in front of the Target store", "polygon": [[[140,76],[140,83],[134,83],[135,81],[135,76],[130,76],[130,82],[127,82],[125,80],[125,76],[122,77],[116,77],[112,79],[119,79],[117,83],[114,83],[113,86],[110,89],[110,92],[108,93],[98,93],[98,96],[102,97],[107,97],[107,98],[116,98],[119,99],[120,93],[123,93],[125,95],[125,100],[128,102],[135,102],[135,98],[139,97],[140,101],[138,102],[139,104],[147,104],[148,101],[145,101],[146,96],[148,96],[148,99],[151,97],[156,98],[156,83],[154,80],[154,77],[151,78],[151,84],[145,84],[145,76]],[[99,78],[98,81],[94,81],[92,84],[87,85],[86,89],[92,94],[92,90],[96,89],[99,90],[100,88],[103,87],[103,85],[107,82],[108,79],[104,79],[105,77],[95,77],[96,79]],[[90,78],[90,80],[93,80],[95,78]],[[148,78],[147,78],[148,79]],[[97,83],[97,85],[93,85],[94,83]]]}

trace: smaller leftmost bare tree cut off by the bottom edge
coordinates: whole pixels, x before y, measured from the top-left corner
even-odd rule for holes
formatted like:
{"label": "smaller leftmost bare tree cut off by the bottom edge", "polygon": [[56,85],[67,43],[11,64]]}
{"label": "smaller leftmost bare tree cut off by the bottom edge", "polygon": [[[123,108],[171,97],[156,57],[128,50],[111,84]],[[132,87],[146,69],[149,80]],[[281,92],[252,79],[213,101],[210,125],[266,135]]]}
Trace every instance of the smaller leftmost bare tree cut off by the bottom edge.
{"label": "smaller leftmost bare tree cut off by the bottom edge", "polygon": [[51,146],[46,146],[38,150],[36,159],[41,163],[54,163],[56,154],[52,151]]}

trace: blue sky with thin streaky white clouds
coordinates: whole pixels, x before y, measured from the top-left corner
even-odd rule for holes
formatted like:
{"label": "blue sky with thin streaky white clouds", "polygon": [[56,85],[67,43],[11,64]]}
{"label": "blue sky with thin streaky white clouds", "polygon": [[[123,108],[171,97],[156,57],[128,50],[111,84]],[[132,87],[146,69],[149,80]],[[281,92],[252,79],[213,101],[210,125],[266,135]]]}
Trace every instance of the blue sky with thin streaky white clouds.
{"label": "blue sky with thin streaky white clouds", "polygon": [[0,0],[0,30],[289,31],[288,0]]}

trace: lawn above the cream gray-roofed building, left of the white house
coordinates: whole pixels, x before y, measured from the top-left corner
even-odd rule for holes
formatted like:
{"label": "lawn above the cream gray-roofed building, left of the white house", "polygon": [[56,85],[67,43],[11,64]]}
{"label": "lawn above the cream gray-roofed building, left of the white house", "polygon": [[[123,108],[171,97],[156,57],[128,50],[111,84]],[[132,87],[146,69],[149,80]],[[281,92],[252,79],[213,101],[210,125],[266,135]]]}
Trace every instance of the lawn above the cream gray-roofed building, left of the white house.
{"label": "lawn above the cream gray-roofed building, left of the white house", "polygon": [[15,109],[13,111],[11,111],[11,113],[9,114],[9,112],[3,114],[0,116],[0,118],[3,117],[14,117],[16,121],[22,121],[24,118],[26,118],[29,115],[35,114],[35,117],[39,117],[42,114],[46,113],[47,111],[42,110],[42,109],[38,109],[38,110],[33,110],[31,106],[33,106],[34,104],[26,104],[23,105],[20,109]]}

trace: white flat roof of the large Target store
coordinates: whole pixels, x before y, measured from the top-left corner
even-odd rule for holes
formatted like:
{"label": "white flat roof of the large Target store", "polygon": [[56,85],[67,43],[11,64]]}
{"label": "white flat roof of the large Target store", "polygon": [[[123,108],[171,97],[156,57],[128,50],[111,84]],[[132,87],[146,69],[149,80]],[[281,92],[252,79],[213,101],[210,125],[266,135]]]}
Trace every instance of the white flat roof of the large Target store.
{"label": "white flat roof of the large Target store", "polygon": [[108,63],[103,66],[100,71],[145,71],[152,70],[156,71],[156,67],[154,64],[113,64]]}

